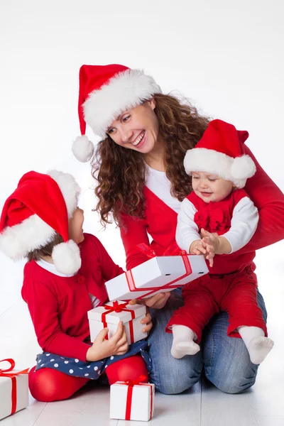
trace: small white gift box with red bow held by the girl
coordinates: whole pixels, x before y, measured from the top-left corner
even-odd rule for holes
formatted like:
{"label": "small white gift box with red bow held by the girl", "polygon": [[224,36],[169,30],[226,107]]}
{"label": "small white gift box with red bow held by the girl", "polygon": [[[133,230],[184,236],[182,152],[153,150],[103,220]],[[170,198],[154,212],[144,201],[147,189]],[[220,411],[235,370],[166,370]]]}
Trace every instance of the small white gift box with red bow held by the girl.
{"label": "small white gift box with red bow held by the girl", "polygon": [[119,300],[94,307],[88,311],[91,342],[94,342],[99,332],[105,327],[109,329],[106,339],[110,339],[116,332],[119,321],[124,323],[129,344],[145,339],[147,333],[143,333],[142,329],[146,324],[141,324],[145,315],[144,305],[128,305]]}

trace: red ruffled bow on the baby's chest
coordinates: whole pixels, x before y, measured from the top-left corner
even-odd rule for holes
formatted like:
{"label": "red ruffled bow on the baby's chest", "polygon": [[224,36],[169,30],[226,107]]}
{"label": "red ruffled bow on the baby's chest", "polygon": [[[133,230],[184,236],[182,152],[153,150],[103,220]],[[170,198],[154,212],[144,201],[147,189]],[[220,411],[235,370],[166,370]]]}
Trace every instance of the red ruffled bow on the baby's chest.
{"label": "red ruffled bow on the baby's chest", "polygon": [[212,202],[207,207],[200,209],[195,213],[195,222],[198,229],[207,229],[209,232],[224,231],[231,226],[231,221],[228,223],[228,215],[222,209],[212,208]]}

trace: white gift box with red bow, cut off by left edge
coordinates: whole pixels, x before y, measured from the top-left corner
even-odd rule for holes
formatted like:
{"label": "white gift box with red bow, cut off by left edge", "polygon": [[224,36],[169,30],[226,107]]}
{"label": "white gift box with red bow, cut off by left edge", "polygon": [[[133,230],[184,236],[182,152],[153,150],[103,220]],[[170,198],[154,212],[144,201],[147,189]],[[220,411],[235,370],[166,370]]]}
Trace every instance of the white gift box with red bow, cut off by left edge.
{"label": "white gift box with red bow, cut off by left edge", "polygon": [[9,368],[0,368],[0,420],[28,407],[28,368],[23,371],[13,370],[15,361],[9,362]]}

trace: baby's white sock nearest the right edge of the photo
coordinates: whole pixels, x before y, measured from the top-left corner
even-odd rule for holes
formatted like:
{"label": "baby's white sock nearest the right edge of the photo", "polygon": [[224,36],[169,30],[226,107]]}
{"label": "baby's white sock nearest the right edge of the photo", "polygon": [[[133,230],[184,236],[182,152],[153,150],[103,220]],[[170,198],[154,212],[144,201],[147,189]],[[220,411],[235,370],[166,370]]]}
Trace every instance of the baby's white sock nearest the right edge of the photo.
{"label": "baby's white sock nearest the right edge of the photo", "polygon": [[273,348],[273,340],[265,337],[263,329],[260,327],[249,327],[243,325],[238,327],[238,332],[244,340],[249,351],[249,357],[253,364],[261,364]]}

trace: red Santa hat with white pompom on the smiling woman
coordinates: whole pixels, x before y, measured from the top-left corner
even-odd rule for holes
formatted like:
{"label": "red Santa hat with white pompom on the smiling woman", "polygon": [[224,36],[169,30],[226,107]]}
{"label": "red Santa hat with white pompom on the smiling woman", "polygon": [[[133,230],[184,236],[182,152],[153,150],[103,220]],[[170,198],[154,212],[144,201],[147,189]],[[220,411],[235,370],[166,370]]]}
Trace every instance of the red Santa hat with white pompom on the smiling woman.
{"label": "red Santa hat with white pompom on the smiling woman", "polygon": [[86,123],[92,131],[106,138],[106,131],[116,116],[160,93],[153,77],[142,70],[124,65],[82,65],[79,74],[78,114],[81,135],[73,142],[77,160],[85,163],[92,158],[94,146],[85,136]]}

